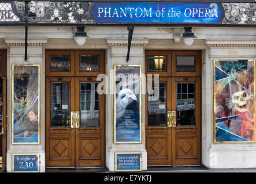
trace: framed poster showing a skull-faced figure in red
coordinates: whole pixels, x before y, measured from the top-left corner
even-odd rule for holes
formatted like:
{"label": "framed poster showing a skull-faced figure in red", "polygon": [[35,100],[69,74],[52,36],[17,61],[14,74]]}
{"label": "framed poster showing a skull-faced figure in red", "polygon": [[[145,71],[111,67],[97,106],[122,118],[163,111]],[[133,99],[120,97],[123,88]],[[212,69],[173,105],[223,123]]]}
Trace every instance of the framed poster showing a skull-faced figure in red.
{"label": "framed poster showing a skull-faced figure in red", "polygon": [[213,66],[214,143],[255,142],[255,60]]}

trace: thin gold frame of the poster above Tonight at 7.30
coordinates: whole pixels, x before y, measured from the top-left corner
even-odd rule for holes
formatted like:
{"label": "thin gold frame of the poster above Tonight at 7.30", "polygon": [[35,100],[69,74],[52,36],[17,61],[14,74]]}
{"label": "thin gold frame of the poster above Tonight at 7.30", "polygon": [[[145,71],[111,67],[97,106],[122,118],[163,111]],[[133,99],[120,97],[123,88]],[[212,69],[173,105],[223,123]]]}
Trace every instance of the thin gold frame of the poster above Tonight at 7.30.
{"label": "thin gold frame of the poster above Tonight at 7.30", "polygon": [[[33,143],[14,143],[14,130],[13,130],[13,121],[14,121],[14,67],[38,67],[38,142]],[[11,99],[11,109],[12,109],[12,144],[40,144],[40,64],[12,64],[12,99]]]}

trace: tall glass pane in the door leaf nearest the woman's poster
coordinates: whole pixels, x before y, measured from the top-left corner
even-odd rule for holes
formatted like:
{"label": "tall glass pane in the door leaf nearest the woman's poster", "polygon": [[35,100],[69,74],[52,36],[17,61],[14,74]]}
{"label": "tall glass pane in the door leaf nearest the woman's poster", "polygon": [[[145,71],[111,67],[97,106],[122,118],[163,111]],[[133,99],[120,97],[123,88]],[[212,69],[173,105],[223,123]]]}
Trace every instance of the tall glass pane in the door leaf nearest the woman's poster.
{"label": "tall glass pane in the door leaf nearest the woman's poster", "polygon": [[51,127],[70,127],[70,83],[51,82]]}

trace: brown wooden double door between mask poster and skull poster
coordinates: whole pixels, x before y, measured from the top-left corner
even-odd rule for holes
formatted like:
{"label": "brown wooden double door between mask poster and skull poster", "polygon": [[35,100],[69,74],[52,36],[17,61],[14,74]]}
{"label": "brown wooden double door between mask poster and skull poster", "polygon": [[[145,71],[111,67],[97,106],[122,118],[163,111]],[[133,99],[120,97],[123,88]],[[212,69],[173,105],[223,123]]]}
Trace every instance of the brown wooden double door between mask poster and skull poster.
{"label": "brown wooden double door between mask poster and skull poster", "polygon": [[146,51],[145,65],[147,165],[200,165],[201,52]]}

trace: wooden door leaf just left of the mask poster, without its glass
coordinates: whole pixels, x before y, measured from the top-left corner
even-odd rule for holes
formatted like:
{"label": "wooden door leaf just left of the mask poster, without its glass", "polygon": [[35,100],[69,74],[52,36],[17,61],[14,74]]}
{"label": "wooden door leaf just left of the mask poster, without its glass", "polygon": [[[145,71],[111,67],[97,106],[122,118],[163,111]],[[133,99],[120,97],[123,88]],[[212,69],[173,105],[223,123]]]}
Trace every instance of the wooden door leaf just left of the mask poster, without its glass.
{"label": "wooden door leaf just left of the mask poster, without its glass", "polygon": [[[80,117],[80,95],[83,94],[80,91],[80,83],[92,84],[95,82],[98,83],[94,77],[76,78],[76,111],[80,112]],[[94,98],[90,100],[92,99]],[[82,125],[80,118],[80,127],[76,128],[76,167],[97,167],[105,164],[105,95],[99,95],[98,99],[98,124],[95,127],[91,127],[92,125],[87,126],[86,124]]]}

